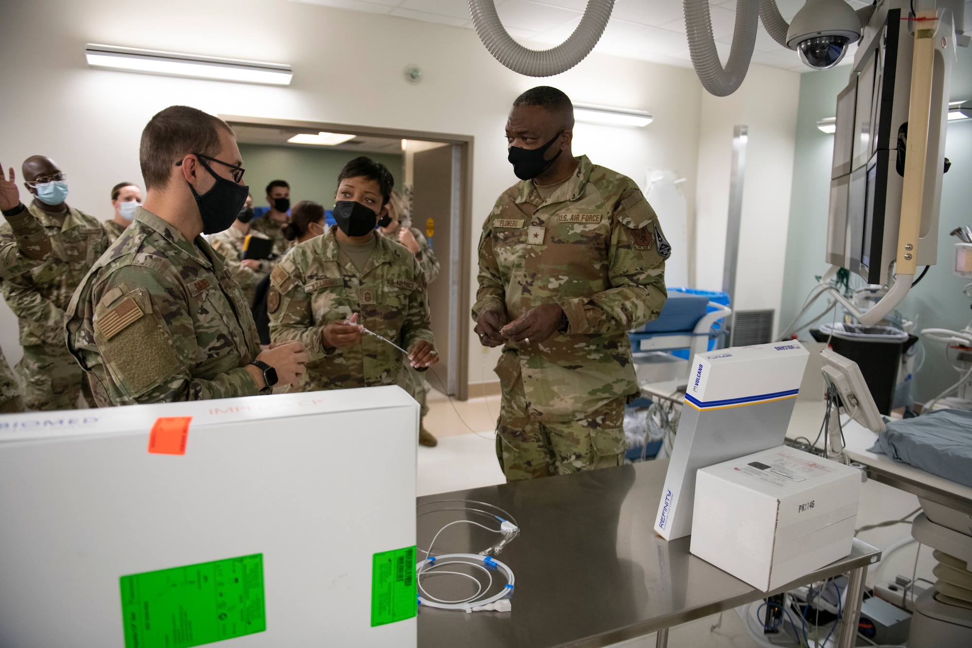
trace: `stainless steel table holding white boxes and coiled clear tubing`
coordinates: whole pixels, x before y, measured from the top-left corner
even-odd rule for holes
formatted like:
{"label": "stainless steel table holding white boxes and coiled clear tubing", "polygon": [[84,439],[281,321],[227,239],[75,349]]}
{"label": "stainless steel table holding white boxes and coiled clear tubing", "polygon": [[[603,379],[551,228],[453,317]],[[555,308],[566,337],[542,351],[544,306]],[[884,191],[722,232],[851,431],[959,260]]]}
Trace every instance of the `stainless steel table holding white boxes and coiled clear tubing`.
{"label": "stainless steel table holding white boxes and coiled clear tubing", "polygon": [[[595,647],[656,630],[658,645],[664,646],[672,626],[847,572],[850,602],[838,646],[854,645],[864,577],[867,566],[880,558],[879,550],[855,539],[847,558],[774,592],[761,592],[690,555],[689,538],[666,542],[655,534],[667,470],[667,460],[647,461],[420,497],[420,505],[447,499],[489,502],[509,511],[521,528],[498,557],[516,576],[512,611],[468,614],[419,606],[420,648]],[[461,505],[421,510],[448,506]],[[443,524],[463,516],[459,511],[420,516],[419,558],[425,558],[422,550]],[[455,524],[439,535],[434,552],[475,553],[497,538]],[[434,585],[439,596],[455,588],[451,592],[458,598],[469,585],[461,578],[432,580],[437,582],[429,587]]]}

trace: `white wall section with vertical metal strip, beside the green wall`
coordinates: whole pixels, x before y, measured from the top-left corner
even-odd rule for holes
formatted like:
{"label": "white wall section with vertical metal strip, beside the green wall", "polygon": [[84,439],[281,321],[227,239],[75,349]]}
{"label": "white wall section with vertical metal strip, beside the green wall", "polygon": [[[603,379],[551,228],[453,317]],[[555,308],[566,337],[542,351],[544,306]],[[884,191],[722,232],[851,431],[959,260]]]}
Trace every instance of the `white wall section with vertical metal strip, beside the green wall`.
{"label": "white wall section with vertical metal strip, beside the green wall", "polygon": [[[699,127],[696,284],[722,289],[733,127],[748,126],[735,308],[774,308],[779,326],[800,75],[750,66],[727,97],[704,93]],[[691,239],[692,234],[689,234]]]}

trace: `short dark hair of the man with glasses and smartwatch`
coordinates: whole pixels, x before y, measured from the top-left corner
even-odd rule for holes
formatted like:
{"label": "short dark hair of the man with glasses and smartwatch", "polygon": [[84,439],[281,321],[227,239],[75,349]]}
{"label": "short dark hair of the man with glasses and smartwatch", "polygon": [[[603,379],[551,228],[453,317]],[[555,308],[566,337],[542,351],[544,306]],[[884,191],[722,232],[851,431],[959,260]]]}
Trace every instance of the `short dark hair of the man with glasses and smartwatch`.
{"label": "short dark hair of the man with glasses and smartwatch", "polygon": [[190,154],[216,157],[220,154],[220,129],[233,129],[218,117],[191,108],[169,106],[156,113],[142,130],[139,162],[145,188],[164,189],[172,165]]}

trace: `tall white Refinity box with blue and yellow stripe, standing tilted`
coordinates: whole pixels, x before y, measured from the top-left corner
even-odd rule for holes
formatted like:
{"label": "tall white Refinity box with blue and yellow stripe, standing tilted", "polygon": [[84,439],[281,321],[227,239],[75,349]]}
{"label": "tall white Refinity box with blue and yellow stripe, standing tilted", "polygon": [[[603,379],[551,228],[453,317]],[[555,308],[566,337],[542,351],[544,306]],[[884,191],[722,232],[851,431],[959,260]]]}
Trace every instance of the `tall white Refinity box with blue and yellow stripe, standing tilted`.
{"label": "tall white Refinity box with blue and yellow stripe, standing tilted", "polygon": [[695,355],[655,532],[666,540],[692,532],[699,468],[782,445],[809,357],[800,342]]}

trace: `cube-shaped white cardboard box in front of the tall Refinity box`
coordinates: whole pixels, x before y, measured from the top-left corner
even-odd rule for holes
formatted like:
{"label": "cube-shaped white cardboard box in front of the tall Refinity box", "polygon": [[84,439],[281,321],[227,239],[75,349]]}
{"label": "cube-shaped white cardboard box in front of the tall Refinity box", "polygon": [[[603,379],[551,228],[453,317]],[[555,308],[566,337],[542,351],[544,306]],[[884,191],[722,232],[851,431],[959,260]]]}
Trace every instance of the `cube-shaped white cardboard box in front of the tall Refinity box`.
{"label": "cube-shaped white cardboard box in front of the tall Refinity box", "polygon": [[696,475],[692,554],[764,592],[851,553],[860,471],[800,450]]}

